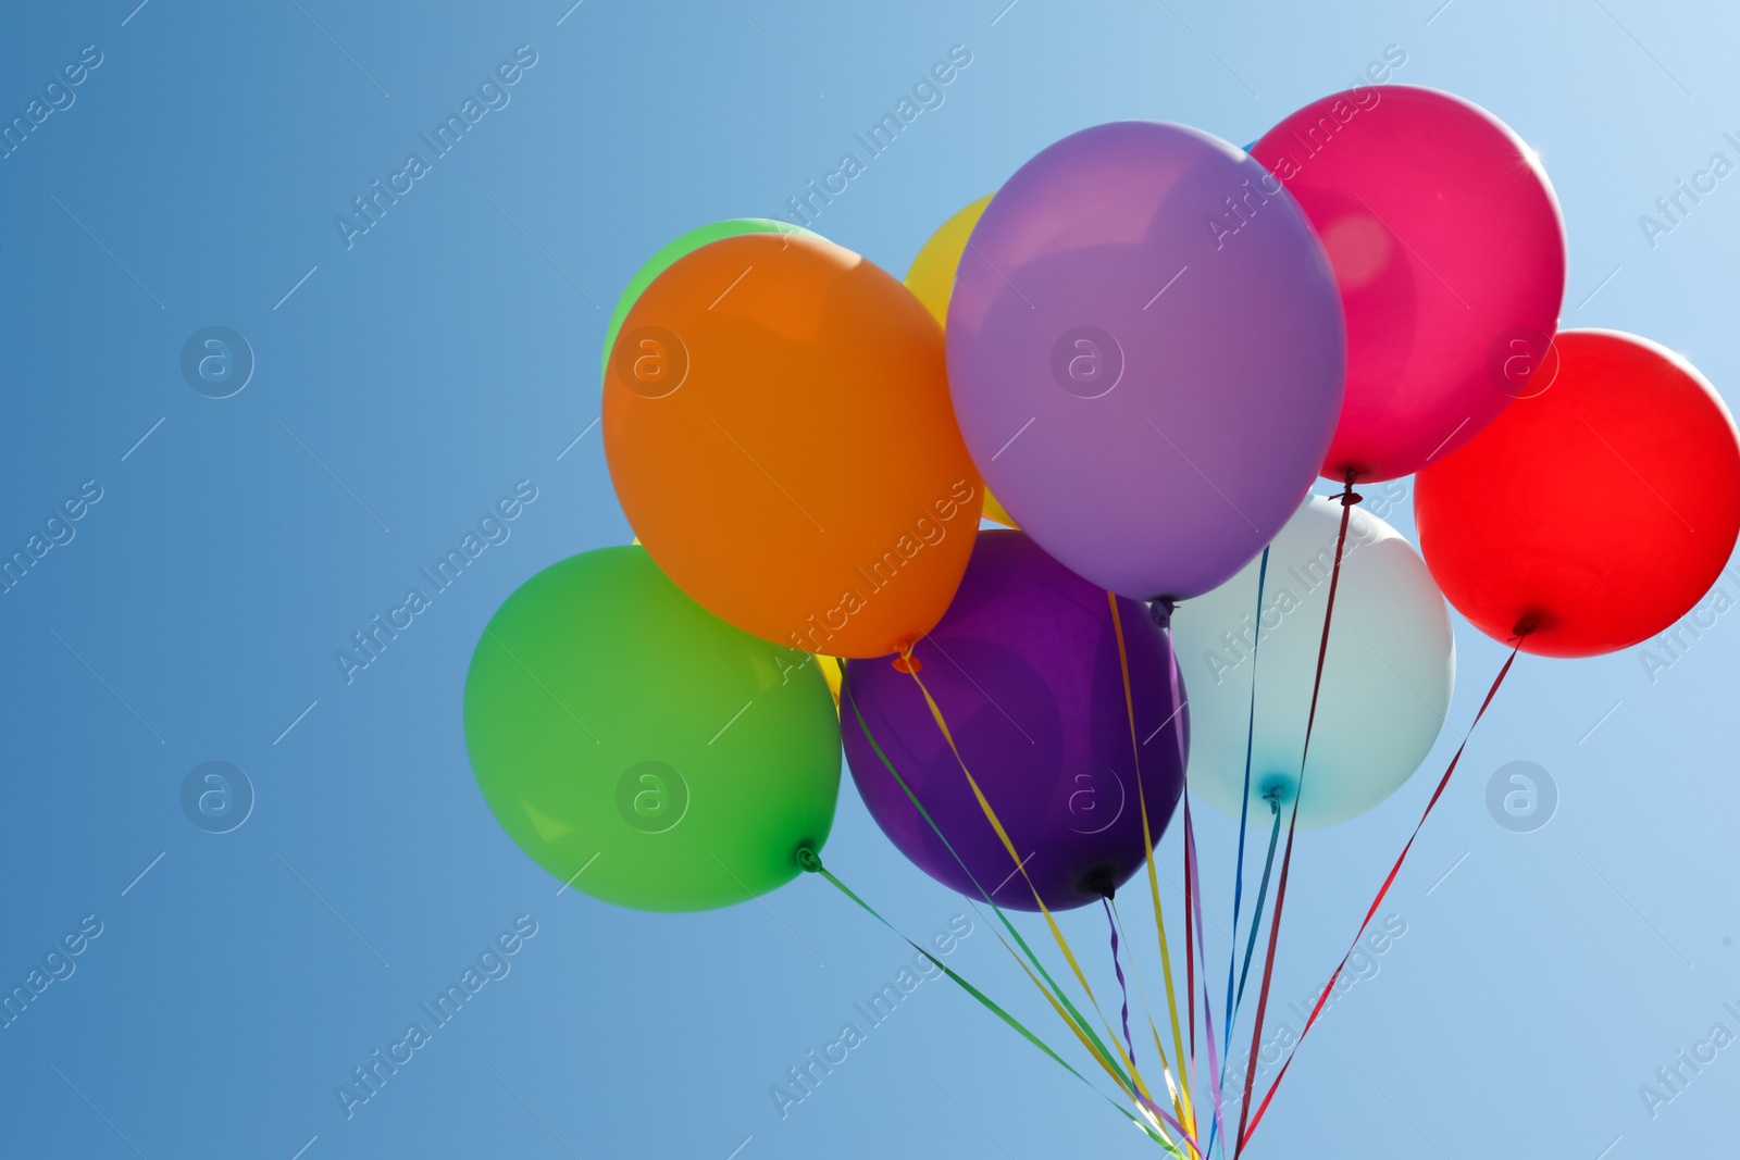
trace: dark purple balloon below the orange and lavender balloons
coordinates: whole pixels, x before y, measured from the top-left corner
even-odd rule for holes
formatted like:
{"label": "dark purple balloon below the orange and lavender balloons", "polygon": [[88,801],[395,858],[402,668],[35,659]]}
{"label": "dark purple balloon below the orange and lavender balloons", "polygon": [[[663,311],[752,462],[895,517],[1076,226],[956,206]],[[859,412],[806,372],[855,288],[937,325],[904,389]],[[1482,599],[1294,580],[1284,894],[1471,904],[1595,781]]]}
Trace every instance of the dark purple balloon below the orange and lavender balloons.
{"label": "dark purple balloon below the orange and lavender balloons", "polygon": [[[1119,617],[1141,793],[1157,842],[1183,790],[1183,678],[1143,605],[1119,600]],[[1047,908],[1084,906],[1136,873],[1147,850],[1103,590],[1021,532],[980,532],[954,603],[912,656]],[[983,897],[983,889],[999,906],[1037,910],[912,675],[887,657],[849,661],[840,713],[853,781],[900,852],[967,897]],[[877,757],[867,729],[947,845]]]}

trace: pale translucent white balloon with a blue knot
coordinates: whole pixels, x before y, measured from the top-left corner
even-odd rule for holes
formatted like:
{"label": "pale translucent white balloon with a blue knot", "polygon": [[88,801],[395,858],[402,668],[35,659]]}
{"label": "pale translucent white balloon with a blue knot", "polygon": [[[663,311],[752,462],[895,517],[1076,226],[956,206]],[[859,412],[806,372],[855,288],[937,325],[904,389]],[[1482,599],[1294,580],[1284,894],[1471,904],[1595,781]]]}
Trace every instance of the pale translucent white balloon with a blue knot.
{"label": "pale translucent white balloon with a blue knot", "polygon": [[[1260,630],[1262,557],[1173,612],[1190,704],[1188,784],[1234,817],[1256,677],[1249,817],[1258,826],[1272,823],[1270,800],[1286,817],[1298,793],[1340,522],[1340,501],[1312,496],[1275,536]],[[1408,781],[1437,739],[1455,678],[1449,612],[1425,562],[1395,529],[1354,506],[1298,824],[1347,821]]]}

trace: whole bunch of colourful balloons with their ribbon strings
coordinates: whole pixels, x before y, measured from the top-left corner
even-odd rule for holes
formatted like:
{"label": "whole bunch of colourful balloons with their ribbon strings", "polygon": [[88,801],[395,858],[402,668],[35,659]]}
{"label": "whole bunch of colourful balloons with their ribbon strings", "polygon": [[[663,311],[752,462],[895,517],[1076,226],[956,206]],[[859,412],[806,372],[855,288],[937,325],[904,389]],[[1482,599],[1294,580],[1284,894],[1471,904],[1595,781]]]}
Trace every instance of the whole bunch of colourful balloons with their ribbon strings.
{"label": "whole bunch of colourful balloons with their ribbon strings", "polygon": [[[947,219],[905,282],[783,223],[682,235],[602,358],[639,541],[491,619],[465,703],[484,797],[578,890],[724,906],[821,868],[844,739],[894,847],[999,915],[1044,911],[1096,1007],[1051,911],[1114,920],[1147,868],[1164,955],[1176,814],[1208,977],[1188,774],[1270,831],[1246,974],[1286,821],[1255,1056],[1293,831],[1371,809],[1432,748],[1444,600],[1512,657],[1610,652],[1691,609],[1740,534],[1728,409],[1646,339],[1561,332],[1564,268],[1535,153],[1402,85],[1248,150],[1084,129]],[[1420,553],[1357,508],[1402,475]],[[1187,1049],[1166,958],[1150,1087],[1128,1030],[1098,1035],[1016,943],[1138,1127],[1180,1157],[1244,1148],[1274,1087],[1253,1115],[1251,1068],[1234,1125],[1227,1068],[1209,1090],[1195,1070],[1199,1037],[1232,1056],[1232,963],[1218,1019],[1185,991]]]}

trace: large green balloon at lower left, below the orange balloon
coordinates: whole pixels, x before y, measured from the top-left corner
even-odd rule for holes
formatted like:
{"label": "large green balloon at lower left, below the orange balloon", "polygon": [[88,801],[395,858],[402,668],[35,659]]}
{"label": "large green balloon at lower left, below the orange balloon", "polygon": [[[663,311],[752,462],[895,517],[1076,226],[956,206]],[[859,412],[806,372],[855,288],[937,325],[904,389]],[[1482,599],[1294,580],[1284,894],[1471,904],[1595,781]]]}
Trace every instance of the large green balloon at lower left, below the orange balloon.
{"label": "large green balloon at lower left, below the orange balloon", "polygon": [[833,826],[840,723],[809,661],[701,609],[644,548],[586,551],[525,581],[477,642],[472,770],[508,837],[576,890],[741,903]]}

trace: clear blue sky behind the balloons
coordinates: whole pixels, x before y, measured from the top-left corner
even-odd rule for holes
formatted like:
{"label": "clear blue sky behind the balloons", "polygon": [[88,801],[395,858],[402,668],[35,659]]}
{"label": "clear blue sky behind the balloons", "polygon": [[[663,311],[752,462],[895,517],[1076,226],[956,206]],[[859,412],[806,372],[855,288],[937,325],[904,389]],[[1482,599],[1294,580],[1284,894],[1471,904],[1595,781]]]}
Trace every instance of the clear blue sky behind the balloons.
{"label": "clear blue sky behind the balloons", "polygon": [[[1665,233],[1641,221],[1712,155],[1740,160],[1724,5],[136,2],[35,5],[0,40],[5,120],[54,110],[0,158],[0,544],[63,541],[0,597],[0,983],[64,976],[0,1030],[5,1155],[1148,1150],[940,981],[781,1118],[769,1087],[910,950],[813,877],[689,917],[559,896],[465,757],[489,614],[630,537],[592,426],[619,287],[684,230],[786,212],[957,45],[971,63],[814,219],[896,273],[938,214],[1072,130],[1162,118],[1242,144],[1395,45],[1397,82],[1467,96],[1540,151],[1566,325],[1653,337],[1735,398],[1740,190]],[[435,157],[421,134],[468,99],[475,123]],[[374,183],[397,202],[362,233]],[[183,374],[207,327],[252,351],[228,398]],[[346,680],[334,652],[522,480],[536,501],[508,536]],[[1411,534],[1406,485],[1375,492]],[[1456,637],[1427,776],[1300,838],[1277,1019],[1345,948],[1502,663],[1460,619]],[[1385,904],[1406,934],[1314,1031],[1253,1157],[1728,1139],[1740,1049],[1670,1103],[1639,1087],[1712,1024],[1740,1033],[1740,628],[1724,612],[1670,664],[1644,659],[1517,664]],[[254,795],[228,833],[183,812],[214,760]],[[1510,762],[1552,777],[1543,828],[1488,812]],[[1199,819],[1225,923],[1234,823]],[[915,937],[971,918],[849,781],[826,857]],[[1176,835],[1161,857],[1176,878]],[[1042,1026],[973,922],[950,965]],[[1067,929],[1103,967],[1098,915]],[[1133,943],[1152,993],[1152,939]],[[487,984],[346,1118],[336,1089],[466,967]]]}

